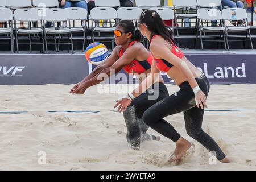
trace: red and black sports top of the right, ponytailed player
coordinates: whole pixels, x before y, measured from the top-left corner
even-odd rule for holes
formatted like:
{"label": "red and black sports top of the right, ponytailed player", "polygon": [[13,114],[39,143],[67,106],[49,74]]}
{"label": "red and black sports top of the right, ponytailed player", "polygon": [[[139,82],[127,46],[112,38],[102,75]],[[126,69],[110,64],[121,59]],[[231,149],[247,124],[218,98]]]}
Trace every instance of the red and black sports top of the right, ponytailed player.
{"label": "red and black sports top of the right, ponytailed player", "polygon": [[[153,36],[151,39],[151,42],[157,36],[160,36],[160,35]],[[172,46],[172,53],[174,55],[176,55],[180,59],[185,56],[184,53],[179,49],[179,47],[175,46],[174,44],[171,44],[171,46]],[[154,57],[154,59],[155,59],[155,57]],[[155,64],[156,64],[156,67],[162,72],[168,72],[174,66],[171,63],[169,63],[167,60],[164,60],[164,59],[155,59]]]}

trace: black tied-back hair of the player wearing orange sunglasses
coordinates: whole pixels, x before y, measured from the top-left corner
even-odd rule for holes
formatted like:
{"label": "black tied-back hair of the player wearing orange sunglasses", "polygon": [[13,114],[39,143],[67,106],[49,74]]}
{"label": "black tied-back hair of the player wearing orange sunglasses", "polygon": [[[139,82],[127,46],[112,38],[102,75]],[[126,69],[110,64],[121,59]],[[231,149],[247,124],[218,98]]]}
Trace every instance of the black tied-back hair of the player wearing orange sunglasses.
{"label": "black tied-back hair of the player wearing orange sunglasses", "polygon": [[131,20],[122,20],[121,22],[117,23],[117,26],[123,28],[123,30],[128,33],[131,32],[133,36],[131,37],[132,41],[140,41],[141,40],[141,32],[138,28],[135,28],[134,23]]}

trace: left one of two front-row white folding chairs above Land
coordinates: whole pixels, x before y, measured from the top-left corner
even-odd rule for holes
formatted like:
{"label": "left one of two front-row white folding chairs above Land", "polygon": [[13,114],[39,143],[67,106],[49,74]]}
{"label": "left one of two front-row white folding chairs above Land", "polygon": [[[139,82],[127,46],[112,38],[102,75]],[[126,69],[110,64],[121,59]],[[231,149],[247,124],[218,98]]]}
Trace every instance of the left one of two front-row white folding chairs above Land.
{"label": "left one of two front-row white folding chairs above Land", "polygon": [[[198,31],[196,34],[196,43],[198,38],[198,32],[200,33],[200,40],[201,40],[201,48],[204,49],[203,42],[224,42],[225,49],[226,49],[226,40],[225,40],[225,27],[222,19],[222,14],[220,10],[217,9],[208,9],[208,8],[201,8],[197,10],[197,18],[198,18]],[[205,26],[203,21],[200,23],[200,20],[206,20],[206,21],[213,21],[213,20],[220,20],[220,26],[221,27],[209,27]],[[208,24],[208,23],[207,23]],[[202,35],[202,32],[204,32],[204,35]],[[220,36],[216,35],[205,35],[205,32],[207,33],[220,33],[220,36],[222,36],[223,40],[203,40],[204,37],[207,38],[220,38]],[[195,48],[196,48],[195,43]]]}

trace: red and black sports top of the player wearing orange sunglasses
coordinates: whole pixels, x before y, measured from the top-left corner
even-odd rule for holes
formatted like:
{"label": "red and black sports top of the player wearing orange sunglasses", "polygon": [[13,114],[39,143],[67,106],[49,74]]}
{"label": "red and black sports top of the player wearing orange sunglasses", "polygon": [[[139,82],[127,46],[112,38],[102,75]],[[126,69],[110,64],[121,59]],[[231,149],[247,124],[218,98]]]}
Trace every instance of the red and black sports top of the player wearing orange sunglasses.
{"label": "red and black sports top of the player wearing orange sunglasses", "polygon": [[[133,44],[136,43],[136,42],[138,42],[138,41],[133,41],[133,42],[131,42],[128,47],[133,46]],[[119,53],[119,57],[121,57],[124,52],[125,52],[125,51],[124,51],[124,49],[122,48],[121,51],[120,51],[120,53]],[[147,58],[146,60],[144,60],[144,61],[133,60],[133,61],[131,61],[130,64],[127,64],[127,65],[125,66],[125,68],[123,68],[123,69],[125,69],[125,71],[126,71],[127,73],[131,73],[131,74],[135,74],[135,73],[141,74],[141,73],[143,73],[143,72],[145,72],[145,71],[147,71],[148,69],[151,68],[152,61],[153,61],[153,60],[154,60],[154,57],[152,56],[151,53],[149,53],[148,58]]]}

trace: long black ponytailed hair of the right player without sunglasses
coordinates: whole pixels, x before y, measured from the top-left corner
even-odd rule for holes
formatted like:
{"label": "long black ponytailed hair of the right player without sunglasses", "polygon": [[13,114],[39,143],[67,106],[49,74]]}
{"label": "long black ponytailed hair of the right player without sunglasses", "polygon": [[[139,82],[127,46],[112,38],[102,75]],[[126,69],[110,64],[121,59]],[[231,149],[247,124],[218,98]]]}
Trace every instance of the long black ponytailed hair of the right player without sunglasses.
{"label": "long black ponytailed hair of the right player without sunglasses", "polygon": [[174,39],[172,39],[174,33],[164,24],[163,19],[155,10],[143,11],[139,18],[139,23],[145,23],[148,30],[152,32],[150,40],[154,35],[160,35],[164,40],[167,40],[171,44],[175,44]]}

